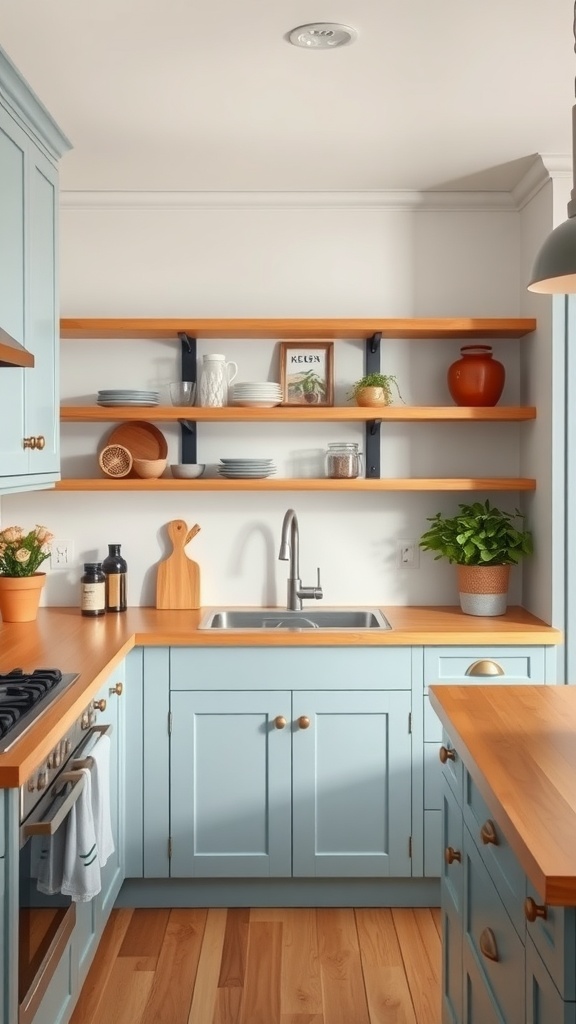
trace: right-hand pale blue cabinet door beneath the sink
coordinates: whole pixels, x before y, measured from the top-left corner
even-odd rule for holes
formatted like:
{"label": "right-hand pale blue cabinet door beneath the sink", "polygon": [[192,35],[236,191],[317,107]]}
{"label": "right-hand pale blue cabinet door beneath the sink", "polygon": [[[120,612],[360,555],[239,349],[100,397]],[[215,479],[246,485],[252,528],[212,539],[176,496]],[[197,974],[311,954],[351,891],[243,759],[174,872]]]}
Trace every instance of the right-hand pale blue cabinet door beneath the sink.
{"label": "right-hand pale blue cabinet door beneath the sink", "polygon": [[[293,873],[411,873],[410,694],[293,694]],[[310,724],[306,724],[310,723]]]}

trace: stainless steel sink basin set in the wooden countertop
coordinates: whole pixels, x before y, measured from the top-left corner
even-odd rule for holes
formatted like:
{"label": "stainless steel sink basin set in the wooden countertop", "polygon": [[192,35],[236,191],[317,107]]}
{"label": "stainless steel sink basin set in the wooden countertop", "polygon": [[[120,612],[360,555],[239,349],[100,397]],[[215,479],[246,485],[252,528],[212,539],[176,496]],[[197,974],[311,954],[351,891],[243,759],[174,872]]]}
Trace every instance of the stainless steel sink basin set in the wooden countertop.
{"label": "stainless steel sink basin set in the wooden countertop", "polygon": [[378,608],[223,608],[208,611],[200,630],[389,630]]}

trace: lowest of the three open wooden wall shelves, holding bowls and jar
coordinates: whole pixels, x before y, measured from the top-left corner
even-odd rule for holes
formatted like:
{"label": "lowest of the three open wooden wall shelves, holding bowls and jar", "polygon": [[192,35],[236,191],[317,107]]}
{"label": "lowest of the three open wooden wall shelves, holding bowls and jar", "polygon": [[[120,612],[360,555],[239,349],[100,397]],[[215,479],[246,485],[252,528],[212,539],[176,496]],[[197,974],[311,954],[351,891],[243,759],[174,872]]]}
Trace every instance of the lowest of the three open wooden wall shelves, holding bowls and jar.
{"label": "lowest of the three open wooden wall shelves, holding bowls and jar", "polygon": [[97,477],[59,480],[56,490],[534,490],[536,480],[526,477],[404,477],[379,480],[282,479],[225,480],[201,477],[198,480],[115,480]]}

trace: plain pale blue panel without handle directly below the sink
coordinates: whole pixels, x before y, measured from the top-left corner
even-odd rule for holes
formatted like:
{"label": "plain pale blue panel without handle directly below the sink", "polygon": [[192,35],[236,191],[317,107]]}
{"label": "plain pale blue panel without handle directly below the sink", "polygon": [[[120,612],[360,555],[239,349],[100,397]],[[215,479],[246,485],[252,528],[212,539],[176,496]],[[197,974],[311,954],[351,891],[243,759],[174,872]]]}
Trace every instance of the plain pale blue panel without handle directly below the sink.
{"label": "plain pale blue panel without handle directly below the sink", "polygon": [[173,690],[409,690],[409,647],[172,647]]}

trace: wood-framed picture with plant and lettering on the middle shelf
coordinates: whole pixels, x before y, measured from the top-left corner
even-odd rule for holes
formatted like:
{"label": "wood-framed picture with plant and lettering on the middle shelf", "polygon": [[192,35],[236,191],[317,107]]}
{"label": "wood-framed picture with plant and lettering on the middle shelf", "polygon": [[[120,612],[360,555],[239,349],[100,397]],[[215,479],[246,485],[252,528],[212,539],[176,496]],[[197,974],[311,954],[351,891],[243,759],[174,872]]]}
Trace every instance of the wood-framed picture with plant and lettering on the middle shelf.
{"label": "wood-framed picture with plant and lettering on the middle shelf", "polygon": [[332,341],[280,343],[283,406],[333,406]]}

